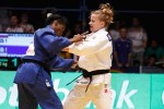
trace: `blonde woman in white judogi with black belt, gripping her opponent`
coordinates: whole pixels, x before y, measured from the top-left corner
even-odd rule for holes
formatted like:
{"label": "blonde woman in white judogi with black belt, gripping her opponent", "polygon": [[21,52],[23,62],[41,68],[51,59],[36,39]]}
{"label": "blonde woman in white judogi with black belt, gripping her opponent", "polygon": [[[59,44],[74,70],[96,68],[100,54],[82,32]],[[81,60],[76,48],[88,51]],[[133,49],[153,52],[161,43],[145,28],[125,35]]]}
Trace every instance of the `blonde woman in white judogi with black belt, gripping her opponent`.
{"label": "blonde woman in white judogi with black belt, gripping her opponent", "polygon": [[93,101],[96,109],[112,109],[110,73],[113,44],[106,28],[113,22],[110,5],[101,4],[99,10],[91,12],[90,31],[83,41],[69,46],[71,53],[80,56],[82,72],[68,95],[63,109],[84,109]]}

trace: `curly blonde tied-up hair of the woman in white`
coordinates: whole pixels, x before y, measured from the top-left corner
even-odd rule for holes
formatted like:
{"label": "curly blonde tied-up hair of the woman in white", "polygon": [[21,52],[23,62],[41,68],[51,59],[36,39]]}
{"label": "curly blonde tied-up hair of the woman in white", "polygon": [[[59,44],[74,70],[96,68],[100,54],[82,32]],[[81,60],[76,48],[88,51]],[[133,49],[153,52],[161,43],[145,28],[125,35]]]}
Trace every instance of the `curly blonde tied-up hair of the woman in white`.
{"label": "curly blonde tied-up hair of the woman in white", "polygon": [[99,14],[99,20],[105,22],[106,27],[108,27],[114,20],[114,11],[109,3],[101,3],[99,9],[92,11],[91,14]]}

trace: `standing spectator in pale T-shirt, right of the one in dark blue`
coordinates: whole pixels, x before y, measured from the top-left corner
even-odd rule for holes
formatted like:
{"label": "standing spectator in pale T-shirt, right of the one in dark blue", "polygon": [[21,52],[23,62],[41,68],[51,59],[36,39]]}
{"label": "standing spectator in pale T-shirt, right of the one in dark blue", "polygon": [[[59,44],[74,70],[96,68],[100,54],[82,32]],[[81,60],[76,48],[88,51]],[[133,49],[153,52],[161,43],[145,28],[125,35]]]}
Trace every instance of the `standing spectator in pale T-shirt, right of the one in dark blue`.
{"label": "standing spectator in pale T-shirt, right of the one in dark blue", "polygon": [[142,65],[148,36],[138,17],[132,19],[132,26],[129,28],[128,37],[132,40],[132,64],[134,66]]}

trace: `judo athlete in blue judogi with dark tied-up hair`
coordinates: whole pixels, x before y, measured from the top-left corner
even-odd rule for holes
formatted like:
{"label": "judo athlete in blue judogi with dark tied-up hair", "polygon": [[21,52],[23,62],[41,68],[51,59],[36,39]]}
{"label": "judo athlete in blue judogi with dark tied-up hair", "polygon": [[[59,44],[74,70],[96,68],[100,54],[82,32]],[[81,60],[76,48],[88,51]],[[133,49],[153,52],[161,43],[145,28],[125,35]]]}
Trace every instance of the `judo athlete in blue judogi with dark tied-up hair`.
{"label": "judo athlete in blue judogi with dark tied-up hair", "polygon": [[17,68],[14,83],[19,90],[19,109],[62,109],[50,77],[50,70],[69,70],[74,61],[58,57],[60,50],[72,43],[81,41],[82,36],[59,37],[66,27],[66,20],[60,15],[47,14],[47,26],[34,33],[23,63]]}

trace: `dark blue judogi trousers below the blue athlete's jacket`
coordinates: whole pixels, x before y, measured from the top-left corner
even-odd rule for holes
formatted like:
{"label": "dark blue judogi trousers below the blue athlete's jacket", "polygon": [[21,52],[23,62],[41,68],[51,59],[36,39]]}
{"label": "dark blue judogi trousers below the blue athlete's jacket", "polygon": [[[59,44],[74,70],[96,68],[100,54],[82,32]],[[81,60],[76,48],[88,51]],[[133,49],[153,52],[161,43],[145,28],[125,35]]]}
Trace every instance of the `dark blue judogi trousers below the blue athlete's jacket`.
{"label": "dark blue judogi trousers below the blue athlete's jacket", "polygon": [[19,109],[63,109],[54,87],[47,87],[43,73],[38,73],[36,84],[19,83]]}

